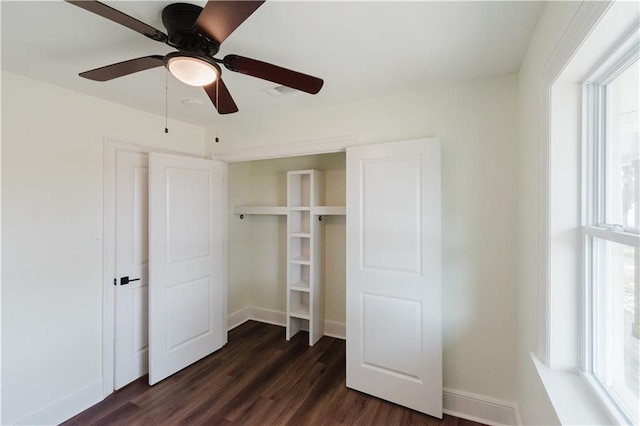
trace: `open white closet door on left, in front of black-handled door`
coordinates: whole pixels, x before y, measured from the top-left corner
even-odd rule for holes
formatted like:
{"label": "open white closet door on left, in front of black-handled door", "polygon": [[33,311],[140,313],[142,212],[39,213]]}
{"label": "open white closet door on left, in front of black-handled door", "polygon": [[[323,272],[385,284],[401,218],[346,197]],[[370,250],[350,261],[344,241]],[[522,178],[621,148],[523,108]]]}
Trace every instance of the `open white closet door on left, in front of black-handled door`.
{"label": "open white closet door on left, in front of black-handled door", "polygon": [[226,164],[149,155],[149,384],[226,333]]}

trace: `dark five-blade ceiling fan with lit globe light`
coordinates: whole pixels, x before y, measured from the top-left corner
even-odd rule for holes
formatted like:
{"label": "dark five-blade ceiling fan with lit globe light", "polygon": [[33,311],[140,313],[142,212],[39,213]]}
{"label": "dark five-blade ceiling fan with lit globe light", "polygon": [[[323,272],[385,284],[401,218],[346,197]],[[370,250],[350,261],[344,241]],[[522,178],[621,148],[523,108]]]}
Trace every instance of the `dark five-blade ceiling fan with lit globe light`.
{"label": "dark five-blade ceiling fan with lit globe light", "polygon": [[139,71],[165,66],[178,80],[202,86],[220,114],[238,111],[231,93],[222,81],[219,64],[229,71],[247,74],[315,95],[323,80],[256,59],[239,55],[214,55],[220,44],[240,26],[265,0],[208,1],[204,8],[188,3],[174,3],[162,10],[167,34],[119,10],[94,0],[65,0],[96,15],[117,22],[148,38],[175,49],[165,56],[150,55],[107,65],[80,73],[95,81],[108,81]]}

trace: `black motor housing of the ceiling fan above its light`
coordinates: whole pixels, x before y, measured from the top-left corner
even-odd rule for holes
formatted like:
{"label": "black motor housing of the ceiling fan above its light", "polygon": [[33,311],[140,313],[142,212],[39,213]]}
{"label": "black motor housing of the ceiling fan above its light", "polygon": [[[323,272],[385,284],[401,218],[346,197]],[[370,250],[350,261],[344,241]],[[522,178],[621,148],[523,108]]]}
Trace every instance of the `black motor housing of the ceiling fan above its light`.
{"label": "black motor housing of the ceiling fan above its light", "polygon": [[220,50],[220,44],[210,40],[197,31],[195,23],[202,12],[200,6],[188,3],[173,3],[162,10],[162,23],[167,29],[167,44],[178,50],[202,53],[214,56]]}

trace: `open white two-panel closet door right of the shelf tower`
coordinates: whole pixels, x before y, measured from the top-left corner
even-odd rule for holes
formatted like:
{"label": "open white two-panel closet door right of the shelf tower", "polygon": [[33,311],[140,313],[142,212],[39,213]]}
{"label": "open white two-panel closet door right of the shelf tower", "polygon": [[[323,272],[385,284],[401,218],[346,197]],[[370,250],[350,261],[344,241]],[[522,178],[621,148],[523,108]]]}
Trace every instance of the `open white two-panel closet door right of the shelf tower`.
{"label": "open white two-panel closet door right of the shelf tower", "polygon": [[442,418],[440,141],[347,148],[347,386]]}

